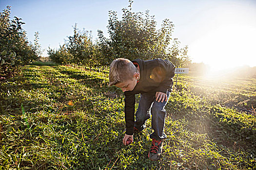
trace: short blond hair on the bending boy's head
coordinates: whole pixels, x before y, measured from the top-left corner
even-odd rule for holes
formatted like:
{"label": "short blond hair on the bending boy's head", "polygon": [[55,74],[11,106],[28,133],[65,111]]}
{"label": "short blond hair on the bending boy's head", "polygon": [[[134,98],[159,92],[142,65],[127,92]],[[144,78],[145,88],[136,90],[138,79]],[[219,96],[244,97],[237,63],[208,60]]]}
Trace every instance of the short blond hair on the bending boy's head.
{"label": "short blond hair on the bending boy's head", "polygon": [[115,59],[109,68],[109,85],[132,80],[135,72],[137,72],[137,68],[130,60],[124,58]]}

